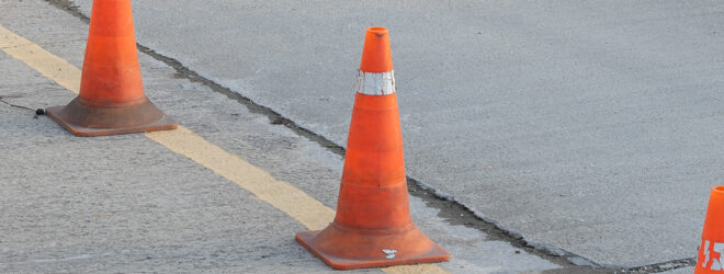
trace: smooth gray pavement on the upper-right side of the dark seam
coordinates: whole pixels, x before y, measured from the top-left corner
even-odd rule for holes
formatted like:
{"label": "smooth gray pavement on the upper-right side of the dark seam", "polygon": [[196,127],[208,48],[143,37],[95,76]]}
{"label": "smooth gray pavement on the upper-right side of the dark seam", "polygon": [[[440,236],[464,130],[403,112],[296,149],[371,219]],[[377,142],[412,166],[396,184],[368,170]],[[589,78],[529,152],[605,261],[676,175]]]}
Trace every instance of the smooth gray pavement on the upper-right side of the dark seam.
{"label": "smooth gray pavement on the upper-right side of the dark seam", "polygon": [[133,3],[139,43],[340,145],[389,27],[408,174],[601,264],[693,256],[722,184],[723,1]]}

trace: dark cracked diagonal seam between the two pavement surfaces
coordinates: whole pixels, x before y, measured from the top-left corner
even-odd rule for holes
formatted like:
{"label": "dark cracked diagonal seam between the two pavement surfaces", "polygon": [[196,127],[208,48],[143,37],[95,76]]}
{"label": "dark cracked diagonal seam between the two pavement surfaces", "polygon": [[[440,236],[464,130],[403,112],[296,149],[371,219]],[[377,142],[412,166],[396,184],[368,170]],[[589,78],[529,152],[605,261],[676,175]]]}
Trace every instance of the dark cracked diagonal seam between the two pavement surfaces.
{"label": "dark cracked diagonal seam between the two pavement surfaces", "polygon": [[[80,19],[86,23],[90,22],[90,18],[83,14],[78,9],[78,7],[75,5],[69,0],[44,0],[44,1],[48,2],[49,4],[58,9],[65,10],[66,12]],[[303,136],[310,141],[315,141],[319,144],[321,147],[328,149],[329,151],[340,156],[344,156],[346,149],[343,147],[327,139],[320,134],[317,134],[308,128],[297,125],[294,121],[284,117],[283,115],[275,112],[271,107],[258,104],[250,98],[241,95],[238,92],[234,92],[230,88],[226,88],[208,78],[201,76],[199,72],[185,67],[182,62],[180,62],[174,58],[159,54],[154,49],[146,47],[142,44],[137,44],[137,46],[138,46],[138,50],[140,50],[142,53],[150,56],[156,60],[166,64],[170,68],[173,68],[177,71],[177,77],[188,79],[191,82],[201,83],[215,92],[224,94],[229,99],[236,100],[237,102],[244,104],[251,113],[262,114],[267,116],[270,119],[271,124],[283,125],[289,129],[293,130],[294,133],[298,134],[299,136]],[[663,263],[655,263],[655,264],[633,266],[633,267],[601,265],[599,263],[593,262],[590,259],[587,259],[581,255],[577,255],[564,249],[546,243],[536,242],[530,239],[525,239],[525,237],[522,233],[514,231],[510,228],[507,228],[494,219],[485,217],[478,210],[473,209],[472,207],[456,201],[452,195],[441,192],[429,184],[420,182],[419,180],[407,176],[407,183],[408,183],[408,189],[410,191],[410,195],[422,198],[423,201],[426,201],[426,204],[428,206],[438,208],[441,212],[450,210],[450,208],[455,208],[454,212],[456,214],[444,216],[444,218],[448,219],[449,222],[451,224],[453,221],[461,222],[466,227],[472,227],[480,231],[484,231],[488,235],[494,235],[495,237],[498,238],[498,240],[507,241],[511,243],[513,247],[524,249],[529,253],[536,254],[541,258],[544,258],[548,261],[552,261],[554,263],[564,266],[565,265],[585,266],[585,267],[590,267],[592,270],[609,270],[614,273],[632,273],[632,272],[656,273],[661,271],[693,266],[695,264],[695,260],[694,262],[689,263],[691,259],[679,259]],[[462,215],[463,218],[459,217],[457,215]],[[470,218],[471,216],[475,220],[471,220]],[[472,225],[471,222],[483,222],[484,225]],[[668,265],[671,263],[675,265],[674,267],[670,269],[660,267],[661,265]]]}

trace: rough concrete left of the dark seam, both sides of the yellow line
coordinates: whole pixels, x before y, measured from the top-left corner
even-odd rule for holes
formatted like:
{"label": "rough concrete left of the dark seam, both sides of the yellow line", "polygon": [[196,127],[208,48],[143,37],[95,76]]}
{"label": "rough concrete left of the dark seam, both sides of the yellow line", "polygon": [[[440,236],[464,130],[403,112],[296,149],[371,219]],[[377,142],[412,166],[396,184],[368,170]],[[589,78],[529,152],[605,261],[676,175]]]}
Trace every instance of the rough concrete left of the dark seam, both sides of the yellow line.
{"label": "rough concrete left of the dark seam, both sides of the yellow line", "polygon": [[[44,1],[0,0],[0,24],[82,64],[88,25]],[[146,94],[183,126],[335,207],[341,157],[140,55]],[[0,52],[0,96],[31,109],[73,94]],[[330,273],[293,240],[305,228],[143,135],[78,138],[0,103],[0,272]],[[412,218],[453,273],[559,265],[451,226],[419,198]],[[378,272],[375,270],[352,273]]]}

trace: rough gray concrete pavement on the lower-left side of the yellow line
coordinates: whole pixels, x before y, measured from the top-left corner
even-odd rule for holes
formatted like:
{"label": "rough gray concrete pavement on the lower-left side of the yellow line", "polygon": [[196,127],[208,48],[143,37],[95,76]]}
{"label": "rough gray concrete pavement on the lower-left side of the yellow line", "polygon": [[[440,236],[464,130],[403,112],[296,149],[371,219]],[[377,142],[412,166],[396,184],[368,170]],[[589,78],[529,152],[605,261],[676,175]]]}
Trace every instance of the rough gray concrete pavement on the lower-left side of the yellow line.
{"label": "rough gray concrete pavement on the lower-left side of the yellow line", "polygon": [[[0,59],[14,62],[3,84],[47,84]],[[73,95],[12,103],[53,94]],[[301,224],[143,135],[78,138],[32,111],[0,112],[0,272],[330,272],[290,237]]]}

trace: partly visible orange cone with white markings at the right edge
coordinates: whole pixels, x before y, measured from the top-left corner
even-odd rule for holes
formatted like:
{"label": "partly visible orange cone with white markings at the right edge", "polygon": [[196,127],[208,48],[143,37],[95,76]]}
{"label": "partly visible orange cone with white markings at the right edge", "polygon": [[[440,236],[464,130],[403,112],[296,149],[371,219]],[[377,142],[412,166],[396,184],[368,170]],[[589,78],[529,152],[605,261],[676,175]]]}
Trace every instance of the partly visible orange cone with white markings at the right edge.
{"label": "partly visible orange cone with white markings at the right edge", "polygon": [[724,273],[724,185],[714,186],[709,197],[704,231],[695,274]]}

